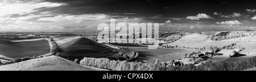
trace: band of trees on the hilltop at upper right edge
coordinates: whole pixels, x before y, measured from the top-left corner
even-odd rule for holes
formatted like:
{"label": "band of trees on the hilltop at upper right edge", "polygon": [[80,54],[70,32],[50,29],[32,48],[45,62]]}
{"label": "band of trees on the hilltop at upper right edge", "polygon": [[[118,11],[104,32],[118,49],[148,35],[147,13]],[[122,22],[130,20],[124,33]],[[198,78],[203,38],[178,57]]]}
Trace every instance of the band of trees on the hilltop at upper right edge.
{"label": "band of trees on the hilltop at upper right edge", "polygon": [[227,40],[230,38],[241,38],[241,37],[249,37],[255,36],[256,32],[253,31],[243,31],[243,32],[220,32],[218,34],[213,34],[210,40],[220,41]]}

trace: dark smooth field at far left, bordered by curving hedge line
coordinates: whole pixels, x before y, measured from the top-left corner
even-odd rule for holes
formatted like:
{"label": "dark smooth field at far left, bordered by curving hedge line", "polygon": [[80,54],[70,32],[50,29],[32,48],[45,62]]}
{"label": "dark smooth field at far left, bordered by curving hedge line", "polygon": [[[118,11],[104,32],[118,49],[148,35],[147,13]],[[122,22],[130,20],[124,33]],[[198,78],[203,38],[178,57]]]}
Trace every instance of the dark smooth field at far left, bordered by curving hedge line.
{"label": "dark smooth field at far left, bordered by curving hedge line", "polygon": [[49,53],[49,42],[44,39],[34,41],[0,41],[0,54],[9,58],[33,57]]}

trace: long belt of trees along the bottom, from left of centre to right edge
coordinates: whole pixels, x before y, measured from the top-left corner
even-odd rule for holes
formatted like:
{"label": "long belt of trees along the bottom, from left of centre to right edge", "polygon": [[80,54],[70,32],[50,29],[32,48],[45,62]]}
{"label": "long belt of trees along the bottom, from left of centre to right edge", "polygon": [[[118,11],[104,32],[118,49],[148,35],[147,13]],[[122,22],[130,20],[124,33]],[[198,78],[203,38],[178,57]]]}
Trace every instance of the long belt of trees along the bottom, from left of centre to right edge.
{"label": "long belt of trees along the bottom, from left of centre to right edge", "polygon": [[173,66],[172,64],[160,63],[111,61],[108,58],[84,58],[80,64],[118,71],[234,71],[256,67],[256,57],[241,61],[202,62],[198,66],[194,64]]}

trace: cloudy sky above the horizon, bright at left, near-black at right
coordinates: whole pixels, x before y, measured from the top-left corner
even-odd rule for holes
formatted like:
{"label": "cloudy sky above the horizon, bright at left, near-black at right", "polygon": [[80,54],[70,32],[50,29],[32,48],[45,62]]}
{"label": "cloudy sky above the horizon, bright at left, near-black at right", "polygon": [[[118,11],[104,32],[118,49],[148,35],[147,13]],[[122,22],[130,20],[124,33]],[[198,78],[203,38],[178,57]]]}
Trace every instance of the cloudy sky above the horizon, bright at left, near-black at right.
{"label": "cloudy sky above the horizon, bright at left, near-black at right", "polygon": [[0,32],[92,32],[100,23],[159,23],[159,31],[256,29],[253,1],[0,0]]}

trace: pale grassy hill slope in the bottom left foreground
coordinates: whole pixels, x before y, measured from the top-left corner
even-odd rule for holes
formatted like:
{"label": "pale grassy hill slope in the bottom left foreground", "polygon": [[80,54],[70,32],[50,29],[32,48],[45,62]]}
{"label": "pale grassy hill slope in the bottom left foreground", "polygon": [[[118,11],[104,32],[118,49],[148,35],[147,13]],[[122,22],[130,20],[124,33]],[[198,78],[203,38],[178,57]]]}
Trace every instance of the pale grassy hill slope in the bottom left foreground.
{"label": "pale grassy hill slope in the bottom left foreground", "polygon": [[93,68],[84,67],[67,59],[56,57],[54,55],[49,57],[31,59],[19,63],[7,64],[0,66],[0,70],[6,71],[95,71]]}

